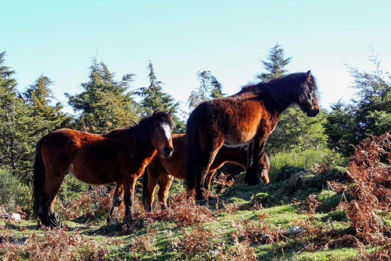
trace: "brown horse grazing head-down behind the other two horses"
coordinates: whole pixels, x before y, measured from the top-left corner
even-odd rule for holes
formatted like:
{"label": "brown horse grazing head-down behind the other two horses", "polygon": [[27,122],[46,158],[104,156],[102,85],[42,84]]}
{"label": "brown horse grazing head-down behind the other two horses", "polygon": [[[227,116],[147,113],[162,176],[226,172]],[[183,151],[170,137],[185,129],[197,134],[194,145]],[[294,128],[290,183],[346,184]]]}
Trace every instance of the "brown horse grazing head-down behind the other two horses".
{"label": "brown horse grazing head-down behind the other two horses", "polygon": [[[185,163],[186,163],[186,136],[185,134],[172,135],[172,145],[175,151],[170,158],[156,155],[149,162],[145,168],[143,174],[143,194],[145,209],[152,210],[152,204],[154,201],[154,193],[156,185],[160,179],[160,188],[158,192],[159,201],[163,203],[163,207],[167,207],[167,198],[169,189],[174,178],[185,179]],[[244,147],[226,147],[222,146],[217,153],[212,165],[209,168],[208,177],[205,181],[206,188],[210,187],[212,177],[216,170],[219,169],[224,163],[230,161],[242,165],[244,169],[247,169],[247,150],[248,146]],[[262,158],[262,164],[266,165],[266,169],[260,172],[260,176],[267,184],[269,183],[268,172],[270,169],[270,161],[267,154]],[[118,195],[117,197],[120,197]]]}

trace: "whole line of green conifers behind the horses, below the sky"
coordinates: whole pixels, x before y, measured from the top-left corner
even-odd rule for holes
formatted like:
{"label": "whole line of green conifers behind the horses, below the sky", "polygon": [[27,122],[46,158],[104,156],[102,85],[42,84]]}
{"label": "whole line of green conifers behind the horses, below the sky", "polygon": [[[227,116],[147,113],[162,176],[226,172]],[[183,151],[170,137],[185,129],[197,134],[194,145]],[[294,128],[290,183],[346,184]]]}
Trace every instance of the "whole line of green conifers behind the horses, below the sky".
{"label": "whole line of green conifers behind the horses, below the sky", "polygon": [[[255,74],[263,81],[287,73],[285,66],[292,58],[285,58],[284,49],[276,44],[265,60],[263,72]],[[285,150],[330,148],[349,156],[350,144],[357,144],[368,135],[380,135],[391,129],[391,76],[380,69],[372,50],[372,72],[347,66],[353,77],[352,88],[357,91],[349,103],[338,102],[330,112],[325,109],[314,118],[305,116],[298,107],[285,111],[277,128],[269,137],[265,151],[273,154]],[[303,68],[303,71],[310,68]],[[5,65],[5,52],[0,54],[0,168],[7,169],[22,183],[29,186],[35,145],[48,132],[58,128],[72,128],[92,133],[105,133],[118,127],[132,125],[140,117],[153,111],[171,111],[176,128],[185,132],[187,113],[179,108],[180,102],[163,91],[150,61],[149,85],[131,88],[135,74],[118,77],[106,64],[93,58],[88,82],[81,83],[83,91],[66,93],[68,104],[77,114],[63,112],[63,104],[56,102],[51,86],[54,82],[45,75],[23,92],[16,89],[15,71]],[[314,72],[316,76],[316,72]],[[225,94],[222,84],[210,71],[196,74],[199,86],[191,92],[187,104],[195,108],[201,101],[219,98]],[[331,77],[331,76],[330,76]],[[246,80],[251,79],[244,79]],[[327,86],[321,86],[321,88]],[[338,95],[338,94],[337,94]],[[136,97],[139,101],[136,102]]]}

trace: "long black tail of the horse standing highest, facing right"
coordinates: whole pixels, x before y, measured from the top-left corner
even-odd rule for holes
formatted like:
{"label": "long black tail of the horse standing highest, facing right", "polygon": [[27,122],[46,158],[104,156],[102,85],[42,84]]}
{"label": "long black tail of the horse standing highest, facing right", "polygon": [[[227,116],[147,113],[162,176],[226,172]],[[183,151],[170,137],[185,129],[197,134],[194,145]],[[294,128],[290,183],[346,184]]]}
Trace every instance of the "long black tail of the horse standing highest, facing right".
{"label": "long black tail of the horse standing highest, facing right", "polygon": [[185,174],[185,185],[187,190],[192,190],[197,184],[197,180],[201,180],[199,173],[199,157],[201,155],[201,147],[199,144],[199,134],[196,124],[195,111],[190,114],[187,120],[186,126],[186,174]]}

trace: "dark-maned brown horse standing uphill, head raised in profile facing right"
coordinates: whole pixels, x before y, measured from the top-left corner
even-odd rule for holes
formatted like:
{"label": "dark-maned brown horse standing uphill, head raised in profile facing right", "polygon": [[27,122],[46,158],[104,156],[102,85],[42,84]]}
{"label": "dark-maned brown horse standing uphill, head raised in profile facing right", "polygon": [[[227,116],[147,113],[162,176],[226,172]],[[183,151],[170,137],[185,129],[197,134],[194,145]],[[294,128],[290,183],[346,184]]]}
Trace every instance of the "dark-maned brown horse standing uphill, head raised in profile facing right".
{"label": "dark-maned brown horse standing uphill, head raised in profile facing right", "polygon": [[246,180],[259,183],[258,169],[269,134],[280,114],[296,103],[314,117],[319,113],[317,85],[311,72],[298,72],[280,78],[243,87],[228,97],[204,101],[187,121],[186,175],[188,190],[196,188],[196,198],[202,199],[201,188],[219,149],[223,146],[249,144]]}

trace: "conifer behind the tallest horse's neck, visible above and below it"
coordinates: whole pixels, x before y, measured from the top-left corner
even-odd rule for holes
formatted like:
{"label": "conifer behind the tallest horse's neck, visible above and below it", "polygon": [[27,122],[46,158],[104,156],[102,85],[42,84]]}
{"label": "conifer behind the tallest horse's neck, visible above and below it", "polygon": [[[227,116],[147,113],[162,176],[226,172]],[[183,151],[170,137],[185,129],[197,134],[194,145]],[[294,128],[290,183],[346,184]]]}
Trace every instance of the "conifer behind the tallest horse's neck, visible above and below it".
{"label": "conifer behind the tallest horse's neck, visible above and below it", "polygon": [[[285,51],[281,45],[274,45],[266,60],[261,60],[265,72],[257,74],[256,78],[265,81],[285,75],[288,72],[285,66],[291,60],[291,57],[285,58]],[[318,116],[310,118],[297,105],[293,105],[280,116],[276,129],[267,140],[265,151],[274,153],[280,150],[324,147],[327,140],[323,127],[325,121],[326,116],[323,110]]]}

